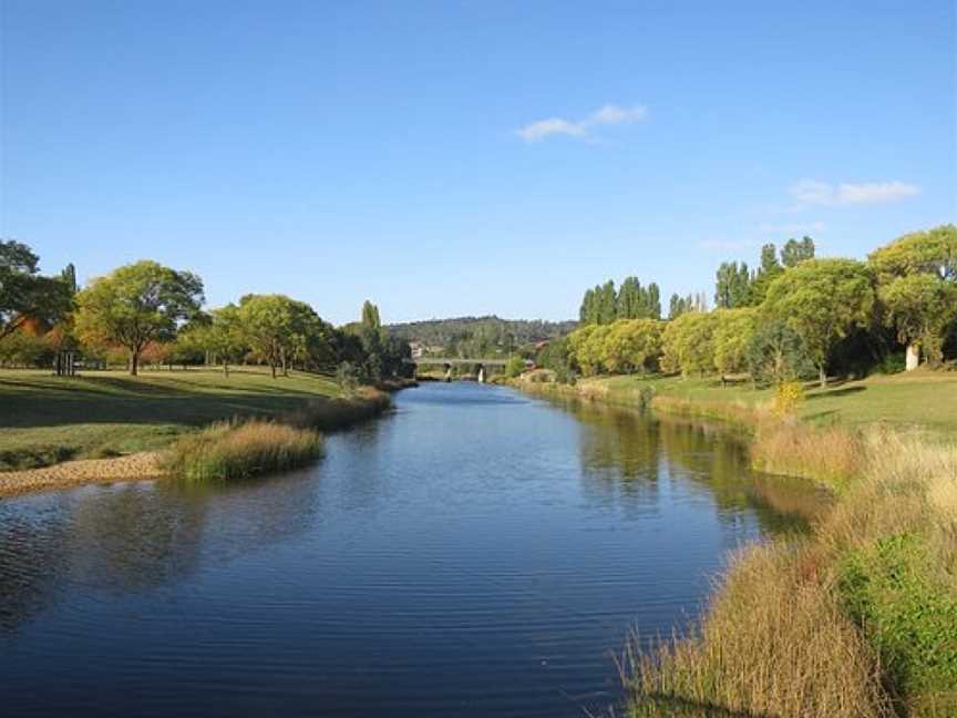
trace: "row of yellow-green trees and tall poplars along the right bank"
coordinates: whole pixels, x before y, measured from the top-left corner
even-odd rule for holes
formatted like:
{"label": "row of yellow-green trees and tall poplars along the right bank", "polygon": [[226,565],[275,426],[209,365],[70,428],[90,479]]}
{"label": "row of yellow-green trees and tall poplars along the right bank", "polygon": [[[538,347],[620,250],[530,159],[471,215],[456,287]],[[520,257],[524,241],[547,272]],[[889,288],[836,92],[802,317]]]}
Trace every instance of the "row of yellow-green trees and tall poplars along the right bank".
{"label": "row of yellow-green trees and tall poplars along the right bank", "polygon": [[[559,378],[660,370],[748,373],[758,382],[813,373],[824,386],[832,371],[937,367],[945,350],[957,353],[954,225],[904,235],[866,261],[816,258],[810,237],[790,240],[780,257],[765,245],[753,271],[743,263],[722,264],[716,309],[709,311],[700,297],[690,306],[672,297],[678,310],[668,321],[654,312],[620,312],[610,283],[589,289],[583,326],[536,361]],[[601,306],[597,314],[594,302]]]}

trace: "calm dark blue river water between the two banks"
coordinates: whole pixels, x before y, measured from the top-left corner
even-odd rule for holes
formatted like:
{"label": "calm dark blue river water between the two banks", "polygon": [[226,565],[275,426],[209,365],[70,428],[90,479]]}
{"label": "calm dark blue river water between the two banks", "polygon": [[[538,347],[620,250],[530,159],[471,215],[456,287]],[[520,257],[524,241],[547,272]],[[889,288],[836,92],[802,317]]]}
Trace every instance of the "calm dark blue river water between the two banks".
{"label": "calm dark blue river water between the two banks", "polygon": [[309,470],[0,501],[4,716],[582,716],[815,498],[700,424],[425,384]]}

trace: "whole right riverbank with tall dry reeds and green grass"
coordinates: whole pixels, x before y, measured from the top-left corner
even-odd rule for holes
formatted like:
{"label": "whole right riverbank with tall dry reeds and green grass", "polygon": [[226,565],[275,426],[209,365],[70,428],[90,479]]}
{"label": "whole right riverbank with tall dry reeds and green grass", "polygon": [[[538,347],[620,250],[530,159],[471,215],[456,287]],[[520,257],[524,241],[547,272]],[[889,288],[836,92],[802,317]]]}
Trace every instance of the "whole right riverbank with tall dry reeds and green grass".
{"label": "whole right riverbank with tall dry reeds and green grass", "polygon": [[716,380],[524,382],[730,421],[752,465],[837,498],[807,536],[737,554],[683,638],[636,640],[628,715],[957,714],[957,379],[920,375],[809,393],[790,419],[769,410],[769,392]]}

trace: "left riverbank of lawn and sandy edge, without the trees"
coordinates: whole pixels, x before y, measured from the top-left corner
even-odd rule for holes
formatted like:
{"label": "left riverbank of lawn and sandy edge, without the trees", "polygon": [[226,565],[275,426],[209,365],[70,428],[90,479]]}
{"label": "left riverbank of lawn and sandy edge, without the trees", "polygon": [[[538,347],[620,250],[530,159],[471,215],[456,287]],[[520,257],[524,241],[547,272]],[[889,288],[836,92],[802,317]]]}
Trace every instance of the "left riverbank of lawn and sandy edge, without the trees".
{"label": "left riverbank of lawn and sandy edge, without the trees", "polygon": [[[395,381],[389,390],[414,386]],[[384,391],[342,391],[303,372],[259,368],[103,371],[55,378],[0,371],[0,495],[163,474],[160,453],[203,427],[265,420],[333,431],[385,411]]]}

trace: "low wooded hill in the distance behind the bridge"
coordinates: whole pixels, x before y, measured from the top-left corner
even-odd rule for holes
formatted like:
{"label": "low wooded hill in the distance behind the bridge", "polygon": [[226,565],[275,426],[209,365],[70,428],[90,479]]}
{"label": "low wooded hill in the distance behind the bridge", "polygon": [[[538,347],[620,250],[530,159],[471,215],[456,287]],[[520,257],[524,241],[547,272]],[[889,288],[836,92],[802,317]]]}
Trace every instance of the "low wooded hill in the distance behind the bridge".
{"label": "low wooded hill in the distance behind the bridge", "polygon": [[568,334],[577,321],[502,319],[501,317],[455,317],[389,325],[389,334],[405,341],[443,347],[461,357],[507,352],[523,345],[554,339]]}

